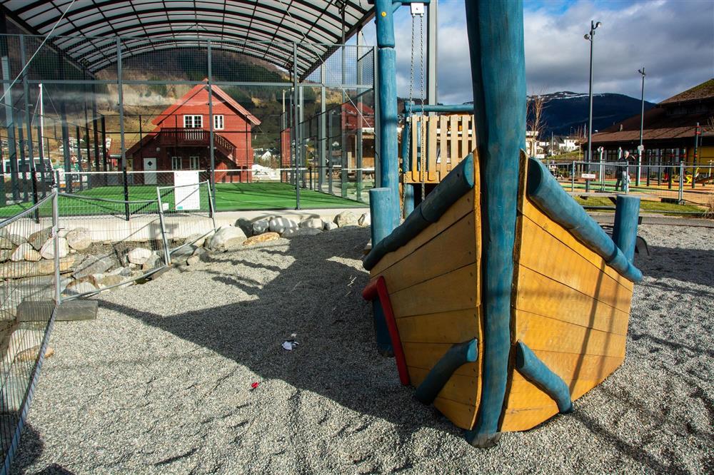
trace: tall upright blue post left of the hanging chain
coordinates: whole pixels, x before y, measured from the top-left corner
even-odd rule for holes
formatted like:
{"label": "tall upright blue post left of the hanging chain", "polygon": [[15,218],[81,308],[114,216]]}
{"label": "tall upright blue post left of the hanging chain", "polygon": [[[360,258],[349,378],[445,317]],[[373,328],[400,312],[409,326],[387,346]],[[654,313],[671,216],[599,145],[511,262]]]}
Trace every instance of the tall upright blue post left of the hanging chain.
{"label": "tall upright blue post left of the hanging chain", "polygon": [[[397,81],[394,50],[393,2],[375,0],[377,70],[379,81],[379,170],[380,187],[388,188],[392,199],[388,208],[377,210],[387,215],[389,231],[399,225],[399,163],[397,141]],[[372,215],[374,218],[375,215]]]}

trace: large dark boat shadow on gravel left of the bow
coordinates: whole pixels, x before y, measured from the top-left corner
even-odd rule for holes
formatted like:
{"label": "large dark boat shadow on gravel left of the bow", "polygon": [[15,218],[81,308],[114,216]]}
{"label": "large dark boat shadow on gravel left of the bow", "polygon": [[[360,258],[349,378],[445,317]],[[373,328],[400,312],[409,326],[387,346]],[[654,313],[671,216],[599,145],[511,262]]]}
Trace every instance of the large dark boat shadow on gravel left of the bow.
{"label": "large dark boat shadow on gravel left of the bow", "polygon": [[[403,439],[425,426],[461,434],[435,415],[434,409],[417,402],[413,391],[401,387],[393,359],[378,355],[371,305],[361,297],[368,272],[333,260],[361,259],[368,237],[366,229],[345,228],[293,237],[287,248],[285,244],[260,248],[273,264],[277,255],[292,257],[285,268],[245,260],[241,251],[213,257],[253,267],[256,272],[278,272],[262,287],[244,268],[243,275],[238,271],[226,275],[210,266],[201,271],[238,287],[254,300],[171,317],[104,301],[99,305],[211,349],[264,379],[281,379],[298,390],[321,394],[343,407],[397,424]],[[221,295],[216,295],[216,302],[220,301]],[[292,333],[300,345],[289,352],[281,344]]]}

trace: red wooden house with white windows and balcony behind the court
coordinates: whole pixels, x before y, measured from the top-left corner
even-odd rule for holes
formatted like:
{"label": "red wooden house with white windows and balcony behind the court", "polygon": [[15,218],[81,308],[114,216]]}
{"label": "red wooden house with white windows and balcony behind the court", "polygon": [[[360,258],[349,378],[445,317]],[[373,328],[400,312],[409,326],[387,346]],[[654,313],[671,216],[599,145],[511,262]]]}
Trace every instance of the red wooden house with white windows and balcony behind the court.
{"label": "red wooden house with white windows and balcony behind the court", "polygon": [[[216,182],[251,181],[251,131],[261,121],[218,86],[211,86],[211,96]],[[126,150],[134,170],[208,170],[209,112],[208,86],[198,84],[156,116],[151,121],[156,128]],[[144,180],[155,182],[156,175],[147,173]]]}

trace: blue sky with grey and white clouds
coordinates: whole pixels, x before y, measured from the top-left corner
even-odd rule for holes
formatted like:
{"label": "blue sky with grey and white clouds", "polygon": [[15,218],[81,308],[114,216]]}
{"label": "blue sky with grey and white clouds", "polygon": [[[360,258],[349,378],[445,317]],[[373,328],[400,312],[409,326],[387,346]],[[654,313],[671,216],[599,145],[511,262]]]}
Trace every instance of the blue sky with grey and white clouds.
{"label": "blue sky with grey and white clouds", "polygon": [[[591,19],[603,23],[595,34],[595,93],[639,98],[642,66],[645,99],[653,102],[714,78],[712,0],[525,0],[524,9],[529,93],[588,92],[589,43],[583,35]],[[438,99],[471,101],[463,0],[439,0],[438,20]],[[417,38],[418,31],[417,23]],[[373,24],[364,34],[374,44]],[[426,41],[426,19],[424,34]],[[406,96],[411,58],[406,6],[396,14],[396,39],[399,93]]]}

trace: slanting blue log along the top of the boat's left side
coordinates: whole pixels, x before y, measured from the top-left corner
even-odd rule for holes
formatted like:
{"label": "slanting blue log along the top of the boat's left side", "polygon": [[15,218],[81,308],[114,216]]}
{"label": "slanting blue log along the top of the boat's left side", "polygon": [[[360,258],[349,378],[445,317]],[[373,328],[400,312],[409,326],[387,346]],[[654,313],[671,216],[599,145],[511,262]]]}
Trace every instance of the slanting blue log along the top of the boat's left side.
{"label": "slanting blue log along the top of the boat's left side", "polygon": [[[414,208],[413,212],[404,220],[404,223],[393,230],[390,235],[376,241],[374,230],[372,230],[372,250],[367,257],[365,257],[363,267],[366,270],[371,270],[388,252],[396,251],[399,247],[402,247],[421,233],[421,231],[426,229],[428,225],[436,223],[453,203],[456,203],[464,193],[471,189],[473,189],[473,155],[469,153],[468,156],[461,160],[461,162],[446,175],[446,178],[428,194],[423,203],[419,203],[419,205]],[[374,215],[373,209],[381,208],[381,205],[373,203],[374,198],[371,194],[373,191],[374,190],[370,190],[369,205],[372,215]],[[388,194],[388,197],[391,198],[391,193]],[[382,195],[379,195],[378,199],[386,200]],[[383,219],[386,218],[379,218],[379,223],[382,223]],[[372,226],[374,227],[374,225],[373,220]],[[377,245],[374,244],[375,242],[377,242]]]}

